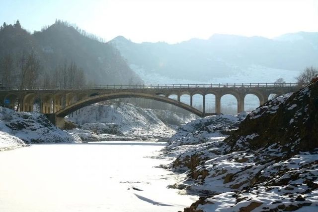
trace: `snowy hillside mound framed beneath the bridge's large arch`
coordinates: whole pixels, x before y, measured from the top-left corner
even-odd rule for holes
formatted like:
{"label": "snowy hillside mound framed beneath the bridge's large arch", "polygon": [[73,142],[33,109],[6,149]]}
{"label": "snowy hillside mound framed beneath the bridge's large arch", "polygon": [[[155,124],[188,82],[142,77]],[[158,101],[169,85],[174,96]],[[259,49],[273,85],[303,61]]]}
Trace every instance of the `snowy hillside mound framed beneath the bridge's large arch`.
{"label": "snowy hillside mound framed beneath the bridge's large arch", "polygon": [[82,129],[97,130],[98,134],[126,136],[127,139],[128,137],[138,137],[143,140],[162,138],[171,136],[175,132],[151,109],[126,103],[87,106],[81,108],[77,114],[70,115],[68,119],[82,125]]}

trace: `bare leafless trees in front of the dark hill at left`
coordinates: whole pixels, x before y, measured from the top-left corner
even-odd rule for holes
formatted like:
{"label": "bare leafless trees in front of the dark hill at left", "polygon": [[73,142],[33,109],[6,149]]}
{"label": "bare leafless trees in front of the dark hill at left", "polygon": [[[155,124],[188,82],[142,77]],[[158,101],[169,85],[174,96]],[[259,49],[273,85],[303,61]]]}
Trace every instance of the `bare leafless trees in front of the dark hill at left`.
{"label": "bare leafless trees in front of the dark hill at left", "polygon": [[0,84],[5,89],[78,89],[86,85],[83,69],[73,61],[43,70],[34,51],[6,54],[0,58]]}

